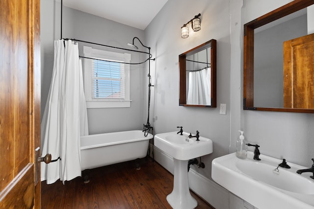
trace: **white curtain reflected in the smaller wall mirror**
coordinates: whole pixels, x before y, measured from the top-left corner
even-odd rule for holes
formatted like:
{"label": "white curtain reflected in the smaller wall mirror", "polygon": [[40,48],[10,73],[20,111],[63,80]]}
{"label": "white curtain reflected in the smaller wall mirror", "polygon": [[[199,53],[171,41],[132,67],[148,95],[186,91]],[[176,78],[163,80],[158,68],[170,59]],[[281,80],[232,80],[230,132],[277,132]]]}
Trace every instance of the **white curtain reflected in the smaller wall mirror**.
{"label": "white curtain reflected in the smaller wall mirror", "polygon": [[189,72],[186,104],[211,105],[210,68]]}

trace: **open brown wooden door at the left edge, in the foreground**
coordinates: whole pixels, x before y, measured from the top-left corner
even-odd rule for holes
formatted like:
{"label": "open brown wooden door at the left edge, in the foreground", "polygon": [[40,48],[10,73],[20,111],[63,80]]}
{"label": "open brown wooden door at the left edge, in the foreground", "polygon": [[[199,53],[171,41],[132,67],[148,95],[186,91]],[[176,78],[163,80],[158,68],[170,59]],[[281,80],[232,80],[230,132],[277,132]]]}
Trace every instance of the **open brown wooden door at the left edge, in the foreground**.
{"label": "open brown wooden door at the left edge, in the foreground", "polygon": [[1,0],[0,209],[40,209],[39,35],[40,0]]}

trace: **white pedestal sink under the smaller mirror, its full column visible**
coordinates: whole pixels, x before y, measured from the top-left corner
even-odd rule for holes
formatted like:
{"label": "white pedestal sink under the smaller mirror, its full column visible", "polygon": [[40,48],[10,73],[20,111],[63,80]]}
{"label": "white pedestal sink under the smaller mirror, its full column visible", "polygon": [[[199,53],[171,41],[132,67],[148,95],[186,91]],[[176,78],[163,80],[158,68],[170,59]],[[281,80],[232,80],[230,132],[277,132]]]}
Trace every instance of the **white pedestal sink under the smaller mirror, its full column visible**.
{"label": "white pedestal sink under the smaller mirror, its full column visible", "polygon": [[173,190],[167,196],[167,201],[173,209],[193,209],[197,206],[188,186],[188,160],[212,153],[210,139],[199,137],[199,141],[196,141],[196,138],[189,139],[188,135],[187,132],[183,132],[183,135],[177,132],[155,135],[155,146],[174,160]]}

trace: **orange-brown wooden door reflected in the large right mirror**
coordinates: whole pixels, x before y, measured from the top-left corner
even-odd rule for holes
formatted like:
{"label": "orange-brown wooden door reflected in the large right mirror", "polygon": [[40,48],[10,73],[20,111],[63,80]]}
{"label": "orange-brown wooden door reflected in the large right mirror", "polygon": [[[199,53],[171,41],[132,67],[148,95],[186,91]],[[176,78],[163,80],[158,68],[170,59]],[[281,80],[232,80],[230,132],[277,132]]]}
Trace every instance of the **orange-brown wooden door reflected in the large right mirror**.
{"label": "orange-brown wooden door reflected in the large right mirror", "polygon": [[284,42],[284,107],[314,109],[314,34]]}

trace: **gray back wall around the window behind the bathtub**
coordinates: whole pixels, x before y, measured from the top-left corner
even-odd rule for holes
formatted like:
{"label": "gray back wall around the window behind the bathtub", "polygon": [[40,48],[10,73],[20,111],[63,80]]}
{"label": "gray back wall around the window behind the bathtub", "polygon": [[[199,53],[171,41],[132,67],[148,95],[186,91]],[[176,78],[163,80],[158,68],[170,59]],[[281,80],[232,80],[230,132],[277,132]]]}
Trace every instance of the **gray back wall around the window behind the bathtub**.
{"label": "gray back wall around the window behind the bathtub", "polygon": [[[60,39],[60,3],[54,0],[41,1],[41,109],[44,112],[53,68],[53,41]],[[103,45],[128,48],[127,43],[138,37],[145,44],[144,31],[98,16],[63,7],[63,38],[75,38]],[[135,42],[136,44],[136,42]],[[78,43],[80,54],[82,46]],[[140,45],[140,44],[139,44]],[[95,46],[97,47],[97,46]],[[109,48],[97,47],[107,50]],[[132,49],[129,47],[129,49]],[[145,51],[145,48],[139,48]],[[122,52],[120,50],[120,52]],[[123,51],[125,52],[125,51]],[[147,57],[131,52],[131,62],[140,62]],[[84,60],[82,60],[84,61]],[[131,108],[88,109],[90,134],[142,130],[144,118],[144,86],[147,63],[131,65]]]}

